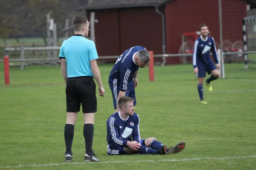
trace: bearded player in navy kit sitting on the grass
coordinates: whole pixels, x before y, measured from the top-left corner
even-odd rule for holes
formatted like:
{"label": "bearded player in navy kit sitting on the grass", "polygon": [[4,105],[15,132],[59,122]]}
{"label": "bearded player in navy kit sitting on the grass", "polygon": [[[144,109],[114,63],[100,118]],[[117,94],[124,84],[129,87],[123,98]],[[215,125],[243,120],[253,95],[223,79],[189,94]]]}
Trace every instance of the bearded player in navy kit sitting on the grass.
{"label": "bearded player in navy kit sitting on the grass", "polygon": [[154,137],[140,139],[140,118],[134,113],[134,100],[122,96],[118,100],[119,112],[112,114],[107,121],[108,155],[153,154],[166,155],[179,153],[185,147],[180,142],[175,147],[167,148]]}

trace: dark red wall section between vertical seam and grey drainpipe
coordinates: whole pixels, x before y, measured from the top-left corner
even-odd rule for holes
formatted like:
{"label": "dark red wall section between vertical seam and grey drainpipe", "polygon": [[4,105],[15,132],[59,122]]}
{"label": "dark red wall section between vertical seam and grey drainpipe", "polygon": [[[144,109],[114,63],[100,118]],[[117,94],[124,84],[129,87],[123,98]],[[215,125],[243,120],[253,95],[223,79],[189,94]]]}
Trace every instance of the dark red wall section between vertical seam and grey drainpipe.
{"label": "dark red wall section between vertical seam and grey drainpipe", "polygon": [[154,8],[120,10],[121,51],[142,45],[155,54],[162,53],[162,20]]}

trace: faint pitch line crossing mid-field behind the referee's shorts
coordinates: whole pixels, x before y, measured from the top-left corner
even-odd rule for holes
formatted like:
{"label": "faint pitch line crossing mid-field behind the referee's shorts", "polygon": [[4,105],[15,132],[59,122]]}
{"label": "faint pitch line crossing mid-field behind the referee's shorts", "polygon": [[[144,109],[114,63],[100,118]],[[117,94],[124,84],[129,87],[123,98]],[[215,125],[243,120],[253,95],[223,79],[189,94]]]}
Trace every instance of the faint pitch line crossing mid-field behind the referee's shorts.
{"label": "faint pitch line crossing mid-field behind the referee's shorts", "polygon": [[[247,92],[256,92],[256,89],[249,89],[249,90],[231,90],[231,91],[205,91],[205,94],[215,94],[215,93],[247,93]],[[161,95],[179,95],[179,94],[195,94],[196,92],[170,92],[170,93],[155,93],[155,94],[142,94],[137,93],[136,96],[161,96]],[[99,97],[99,96],[97,96]],[[105,95],[105,97],[112,97],[111,95]],[[0,100],[17,100],[17,99],[64,99],[63,97],[0,97]]]}

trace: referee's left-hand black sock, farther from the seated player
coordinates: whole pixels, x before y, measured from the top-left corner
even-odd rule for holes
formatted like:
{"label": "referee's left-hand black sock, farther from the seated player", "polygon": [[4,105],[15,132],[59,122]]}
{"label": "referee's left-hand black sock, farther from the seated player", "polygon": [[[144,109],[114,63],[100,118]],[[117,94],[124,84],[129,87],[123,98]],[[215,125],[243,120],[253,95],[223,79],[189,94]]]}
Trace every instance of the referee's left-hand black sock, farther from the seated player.
{"label": "referee's left-hand black sock, farther from the seated player", "polygon": [[66,154],[72,154],[71,147],[74,138],[74,127],[75,125],[66,124],[64,128],[64,138],[66,144]]}

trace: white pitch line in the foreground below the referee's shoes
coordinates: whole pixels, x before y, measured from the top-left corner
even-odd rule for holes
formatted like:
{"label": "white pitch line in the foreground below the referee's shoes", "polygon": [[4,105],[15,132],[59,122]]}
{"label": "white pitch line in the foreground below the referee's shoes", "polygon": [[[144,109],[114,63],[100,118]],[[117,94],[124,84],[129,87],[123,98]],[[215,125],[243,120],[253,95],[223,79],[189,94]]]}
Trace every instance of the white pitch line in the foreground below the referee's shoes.
{"label": "white pitch line in the foreground below the referee's shoes", "polygon": [[140,162],[176,162],[176,161],[198,161],[198,160],[222,160],[222,159],[249,159],[256,158],[255,155],[252,156],[232,156],[232,157],[212,157],[212,158],[184,158],[184,159],[162,159],[162,160],[138,160],[138,161],[100,161],[100,162],[73,162],[73,163],[52,163],[52,164],[30,164],[30,165],[18,165],[18,166],[5,166],[0,168],[19,168],[19,167],[51,167],[51,166],[59,166],[66,164],[114,164],[114,163],[140,163]]}

